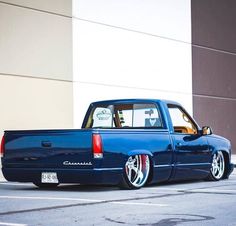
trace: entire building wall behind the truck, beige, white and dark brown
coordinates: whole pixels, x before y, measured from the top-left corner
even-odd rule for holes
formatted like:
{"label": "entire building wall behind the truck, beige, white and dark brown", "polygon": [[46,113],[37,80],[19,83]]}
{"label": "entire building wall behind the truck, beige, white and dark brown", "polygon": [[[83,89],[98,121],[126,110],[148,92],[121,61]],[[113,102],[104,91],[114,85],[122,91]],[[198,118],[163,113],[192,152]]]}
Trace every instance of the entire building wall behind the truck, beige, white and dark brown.
{"label": "entire building wall behind the truck, beige, white and dark brown", "polygon": [[0,134],[79,128],[88,104],[181,102],[236,149],[233,0],[0,2]]}

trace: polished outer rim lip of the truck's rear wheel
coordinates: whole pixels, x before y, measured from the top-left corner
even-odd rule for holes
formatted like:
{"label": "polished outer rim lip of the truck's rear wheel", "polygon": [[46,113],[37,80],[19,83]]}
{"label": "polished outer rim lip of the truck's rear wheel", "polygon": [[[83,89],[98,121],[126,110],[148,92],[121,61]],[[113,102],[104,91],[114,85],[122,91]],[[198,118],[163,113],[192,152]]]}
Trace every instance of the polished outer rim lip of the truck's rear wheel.
{"label": "polished outer rim lip of the truck's rear wheel", "polygon": [[[140,159],[139,157],[142,157],[142,156],[145,156],[145,157],[146,157],[146,159],[145,159],[146,164],[148,163],[148,165],[147,165],[147,167],[146,167],[146,169],[145,169],[145,170],[146,170],[145,176],[144,176],[144,179],[141,180],[141,183],[138,183],[138,182],[134,183],[135,180],[132,182],[132,181],[129,179],[129,176],[127,175],[127,164],[128,164],[128,162],[129,162],[130,158],[137,158],[137,157],[138,157],[138,159]],[[125,176],[126,176],[126,179],[127,179],[128,183],[129,183],[132,187],[134,187],[134,188],[141,188],[141,187],[147,182],[147,180],[148,180],[150,168],[151,168],[151,159],[150,159],[150,156],[149,156],[149,155],[147,155],[147,154],[136,154],[136,155],[129,156],[128,160],[127,160],[126,163],[125,163],[125,174],[126,174]],[[143,170],[143,172],[144,172],[145,170]],[[143,173],[143,172],[142,172],[142,173]]]}

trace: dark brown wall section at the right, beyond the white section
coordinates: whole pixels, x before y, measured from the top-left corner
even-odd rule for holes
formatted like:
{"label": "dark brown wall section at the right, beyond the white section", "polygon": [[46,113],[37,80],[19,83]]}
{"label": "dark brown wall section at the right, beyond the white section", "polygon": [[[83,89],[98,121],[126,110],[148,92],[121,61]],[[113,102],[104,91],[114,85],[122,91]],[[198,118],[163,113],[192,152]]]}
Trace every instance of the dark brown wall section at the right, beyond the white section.
{"label": "dark brown wall section at the right, beyond the white section", "polygon": [[193,109],[236,154],[236,2],[192,0]]}

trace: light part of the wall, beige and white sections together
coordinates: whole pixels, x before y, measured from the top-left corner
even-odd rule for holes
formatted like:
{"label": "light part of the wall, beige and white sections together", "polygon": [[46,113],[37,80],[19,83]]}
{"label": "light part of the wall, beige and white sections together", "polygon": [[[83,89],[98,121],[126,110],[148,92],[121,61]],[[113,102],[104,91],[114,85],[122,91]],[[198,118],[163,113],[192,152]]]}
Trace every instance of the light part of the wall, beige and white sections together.
{"label": "light part of the wall, beige and white sections together", "polygon": [[78,128],[101,99],[174,99],[192,111],[189,0],[4,2],[0,133]]}

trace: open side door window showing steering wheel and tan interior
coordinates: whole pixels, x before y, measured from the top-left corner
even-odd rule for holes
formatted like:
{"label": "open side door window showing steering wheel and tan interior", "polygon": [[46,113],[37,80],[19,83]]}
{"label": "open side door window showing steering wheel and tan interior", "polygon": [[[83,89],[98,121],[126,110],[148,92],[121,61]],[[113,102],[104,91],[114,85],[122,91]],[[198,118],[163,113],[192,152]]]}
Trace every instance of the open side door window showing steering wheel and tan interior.
{"label": "open side door window showing steering wheel and tan interior", "polygon": [[197,127],[187,113],[178,106],[168,105],[175,133],[197,134]]}

